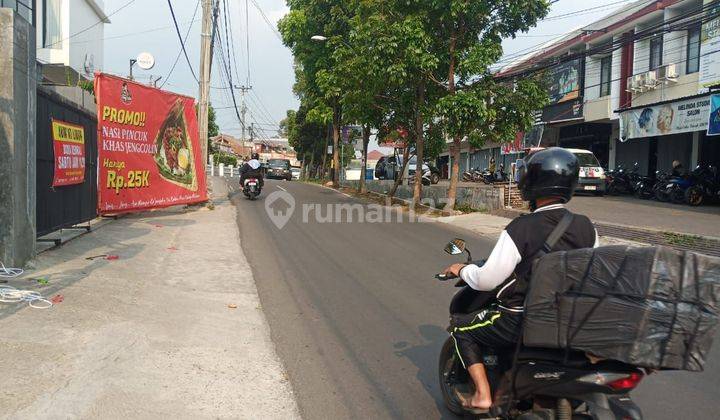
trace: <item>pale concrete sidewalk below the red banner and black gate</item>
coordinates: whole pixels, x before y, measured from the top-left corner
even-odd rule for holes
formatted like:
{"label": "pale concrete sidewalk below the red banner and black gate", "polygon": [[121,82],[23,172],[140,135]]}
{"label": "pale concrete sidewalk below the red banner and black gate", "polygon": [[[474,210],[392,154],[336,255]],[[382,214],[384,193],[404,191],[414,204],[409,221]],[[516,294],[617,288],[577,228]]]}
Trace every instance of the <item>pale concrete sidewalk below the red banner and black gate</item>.
{"label": "pale concrete sidewalk below the red banner and black gate", "polygon": [[[215,210],[121,218],[9,282],[62,302],[0,303],[0,417],[299,418],[213,187]],[[118,259],[86,259],[100,254]]]}

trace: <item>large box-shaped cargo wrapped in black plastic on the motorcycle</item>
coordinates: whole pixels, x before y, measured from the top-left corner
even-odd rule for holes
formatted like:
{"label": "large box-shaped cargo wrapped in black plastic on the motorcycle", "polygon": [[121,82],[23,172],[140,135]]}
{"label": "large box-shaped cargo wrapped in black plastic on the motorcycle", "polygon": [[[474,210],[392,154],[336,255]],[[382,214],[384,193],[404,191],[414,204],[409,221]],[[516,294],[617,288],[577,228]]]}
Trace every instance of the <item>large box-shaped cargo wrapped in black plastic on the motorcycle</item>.
{"label": "large box-shaped cargo wrapped in black plastic on the motorcycle", "polygon": [[533,269],[524,343],[700,371],[719,300],[720,258],[664,247],[555,252]]}

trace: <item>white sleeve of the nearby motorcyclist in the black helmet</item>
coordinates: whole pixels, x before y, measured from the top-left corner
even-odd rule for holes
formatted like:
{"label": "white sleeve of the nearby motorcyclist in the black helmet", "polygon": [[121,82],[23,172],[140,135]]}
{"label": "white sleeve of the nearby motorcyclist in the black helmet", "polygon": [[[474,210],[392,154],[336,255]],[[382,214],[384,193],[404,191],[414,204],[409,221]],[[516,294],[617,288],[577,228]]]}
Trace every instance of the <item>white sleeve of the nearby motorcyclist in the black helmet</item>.
{"label": "white sleeve of the nearby motorcyclist in the black helmet", "polygon": [[460,270],[460,278],[475,290],[490,291],[510,277],[521,260],[515,242],[503,230],[485,265],[466,265]]}

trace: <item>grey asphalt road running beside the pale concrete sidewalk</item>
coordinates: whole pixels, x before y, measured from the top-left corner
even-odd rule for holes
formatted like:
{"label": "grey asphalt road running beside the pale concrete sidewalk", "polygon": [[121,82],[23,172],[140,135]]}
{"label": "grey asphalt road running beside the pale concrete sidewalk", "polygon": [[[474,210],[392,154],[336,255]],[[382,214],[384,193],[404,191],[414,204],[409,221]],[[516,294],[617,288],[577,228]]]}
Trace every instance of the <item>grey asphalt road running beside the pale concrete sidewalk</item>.
{"label": "grey asphalt road running beside the pale concrete sidewalk", "polygon": [[[265,200],[281,189],[292,195],[295,208],[278,229]],[[352,223],[319,223],[305,205],[322,205],[320,215],[326,216],[327,205],[357,201],[297,182],[266,181],[259,200],[235,193],[233,201],[243,249],[304,418],[455,418],[437,384],[454,289],[433,274],[461,260],[443,252],[449,239],[466,239],[475,258],[489,252],[490,241],[408,218],[359,223],[355,213]],[[271,207],[288,210],[282,201]],[[646,418],[715,417],[717,347],[705,373],[646,379],[634,394]]]}

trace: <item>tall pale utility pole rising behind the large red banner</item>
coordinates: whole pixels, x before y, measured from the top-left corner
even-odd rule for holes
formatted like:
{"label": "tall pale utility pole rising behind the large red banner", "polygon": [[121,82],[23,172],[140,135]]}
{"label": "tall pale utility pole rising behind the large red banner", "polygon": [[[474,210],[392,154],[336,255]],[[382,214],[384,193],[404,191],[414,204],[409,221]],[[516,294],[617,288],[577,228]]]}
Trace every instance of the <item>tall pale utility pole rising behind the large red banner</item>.
{"label": "tall pale utility pole rising behind the large red banner", "polygon": [[200,32],[200,100],[198,104],[198,124],[200,125],[200,150],[202,150],[203,168],[207,164],[208,143],[208,98],[210,96],[210,61],[212,48],[212,0],[202,0],[203,17]]}

